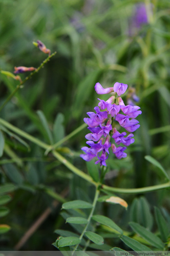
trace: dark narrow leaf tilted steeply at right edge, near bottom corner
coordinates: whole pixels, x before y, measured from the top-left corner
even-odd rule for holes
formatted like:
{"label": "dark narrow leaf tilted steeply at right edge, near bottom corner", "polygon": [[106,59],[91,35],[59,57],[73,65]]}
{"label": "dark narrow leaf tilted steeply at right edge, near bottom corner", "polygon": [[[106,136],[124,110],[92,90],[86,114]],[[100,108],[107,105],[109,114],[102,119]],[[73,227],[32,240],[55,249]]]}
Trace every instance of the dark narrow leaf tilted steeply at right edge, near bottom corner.
{"label": "dark narrow leaf tilted steeply at right edge, near bottom corner", "polygon": [[165,221],[160,210],[157,207],[154,207],[154,210],[155,210],[156,223],[157,223],[161,238],[164,242],[167,242],[167,238],[169,235],[168,224]]}

